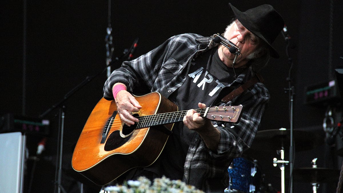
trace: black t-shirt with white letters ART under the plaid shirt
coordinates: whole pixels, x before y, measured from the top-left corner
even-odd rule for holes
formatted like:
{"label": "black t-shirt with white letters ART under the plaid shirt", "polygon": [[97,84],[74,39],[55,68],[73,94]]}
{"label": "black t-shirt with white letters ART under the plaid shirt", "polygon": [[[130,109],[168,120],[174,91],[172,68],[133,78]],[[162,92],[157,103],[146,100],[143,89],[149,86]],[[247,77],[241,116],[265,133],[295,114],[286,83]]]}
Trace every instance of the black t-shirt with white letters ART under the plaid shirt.
{"label": "black t-shirt with white letters ART under the plaid shirt", "polygon": [[[235,69],[236,75],[243,70]],[[178,105],[179,111],[199,109],[199,102],[209,106],[222,88],[234,79],[233,69],[220,60],[214,48],[192,61],[184,84],[169,96],[169,100]],[[170,179],[182,179],[187,151],[194,134],[195,131],[189,130],[183,122],[174,124],[173,134],[169,136],[160,156],[163,175]]]}

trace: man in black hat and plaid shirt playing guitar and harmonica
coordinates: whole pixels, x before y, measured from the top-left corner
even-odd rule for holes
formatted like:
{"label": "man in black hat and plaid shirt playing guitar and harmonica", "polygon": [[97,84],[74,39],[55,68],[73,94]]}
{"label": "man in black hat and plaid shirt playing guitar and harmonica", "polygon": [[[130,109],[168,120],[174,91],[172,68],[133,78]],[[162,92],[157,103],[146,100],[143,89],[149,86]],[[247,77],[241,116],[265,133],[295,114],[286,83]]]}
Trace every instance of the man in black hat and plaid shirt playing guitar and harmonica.
{"label": "man in black hat and plaid shirt playing guitar and harmonica", "polygon": [[159,158],[149,167],[127,172],[125,179],[165,175],[206,192],[227,188],[227,168],[250,147],[270,97],[268,90],[257,82],[220,104],[244,106],[238,124],[211,122],[193,109],[219,104],[223,96],[249,81],[270,56],[278,58],[271,44],[284,26],[271,5],[245,12],[230,7],[236,19],[224,37],[239,48],[239,55],[212,43],[210,37],[177,35],[149,53],[125,61],[105,82],[104,97],[115,100],[120,119],[127,125],[139,121],[130,113],[144,108],[131,93],[159,92],[179,110],[188,110],[183,121],[175,123]]}

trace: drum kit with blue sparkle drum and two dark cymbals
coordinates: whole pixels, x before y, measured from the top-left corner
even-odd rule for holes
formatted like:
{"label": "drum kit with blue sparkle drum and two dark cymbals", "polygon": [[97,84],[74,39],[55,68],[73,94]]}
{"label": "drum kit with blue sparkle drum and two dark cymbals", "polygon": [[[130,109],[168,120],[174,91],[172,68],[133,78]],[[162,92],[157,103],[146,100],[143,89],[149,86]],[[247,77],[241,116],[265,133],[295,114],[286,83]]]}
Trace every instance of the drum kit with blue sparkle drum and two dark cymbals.
{"label": "drum kit with blue sparkle drum and two dark cymbals", "polygon": [[[323,143],[323,137],[314,132],[293,130],[293,144],[295,151],[310,150]],[[257,132],[251,148],[239,158],[233,160],[228,168],[230,183],[225,192],[234,193],[260,193],[270,192],[262,185],[262,172],[257,160],[251,157],[258,157],[256,154],[271,155],[277,152],[281,159],[274,158],[273,166],[279,166],[281,170],[281,192],[285,189],[285,166],[289,161],[285,160],[284,152],[289,151],[290,130],[271,129]],[[272,160],[271,160],[272,161]],[[317,192],[320,183],[337,183],[340,177],[340,170],[329,168],[317,168],[317,158],[312,160],[310,168],[296,168],[293,170],[293,180],[296,182],[310,183],[314,193]]]}

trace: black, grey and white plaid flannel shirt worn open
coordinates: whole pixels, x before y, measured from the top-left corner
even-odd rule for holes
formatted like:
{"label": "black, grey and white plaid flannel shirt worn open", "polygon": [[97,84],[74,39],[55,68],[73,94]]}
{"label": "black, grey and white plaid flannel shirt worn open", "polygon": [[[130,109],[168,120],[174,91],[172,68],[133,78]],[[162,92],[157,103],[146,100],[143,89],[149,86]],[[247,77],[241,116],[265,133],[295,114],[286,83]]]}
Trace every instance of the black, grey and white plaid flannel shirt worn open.
{"label": "black, grey and white plaid flannel shirt worn open", "polygon": [[[197,34],[176,35],[149,53],[123,62],[106,80],[104,98],[113,100],[112,87],[116,82],[124,83],[131,93],[159,92],[168,98],[186,80],[192,59],[199,55],[199,47],[206,46],[208,42],[209,37]],[[240,74],[222,92],[228,94],[250,77],[251,73]],[[206,148],[196,134],[186,156],[183,181],[205,192],[223,192],[229,183],[229,164],[252,144],[269,98],[267,88],[258,82],[227,102],[225,105],[244,106],[239,123],[226,126],[213,123],[219,125],[217,128],[221,133],[215,152]]]}

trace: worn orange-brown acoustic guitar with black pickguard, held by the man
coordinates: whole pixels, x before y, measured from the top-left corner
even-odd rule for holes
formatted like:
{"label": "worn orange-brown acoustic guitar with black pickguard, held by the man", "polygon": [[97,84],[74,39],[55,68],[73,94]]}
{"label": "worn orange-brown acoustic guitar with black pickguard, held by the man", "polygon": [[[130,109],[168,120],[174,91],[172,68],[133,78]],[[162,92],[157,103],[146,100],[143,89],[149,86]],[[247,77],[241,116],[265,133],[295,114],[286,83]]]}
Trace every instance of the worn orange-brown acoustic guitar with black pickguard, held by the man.
{"label": "worn orange-brown acoustic guitar with black pickguard, held by the man", "polygon": [[[75,146],[72,167],[97,185],[105,185],[135,167],[150,166],[161,154],[175,122],[187,111],[158,92],[134,96],[142,108],[133,112],[139,122],[123,124],[115,101],[104,98],[88,117]],[[196,110],[214,121],[237,123],[243,106],[207,107]]]}

